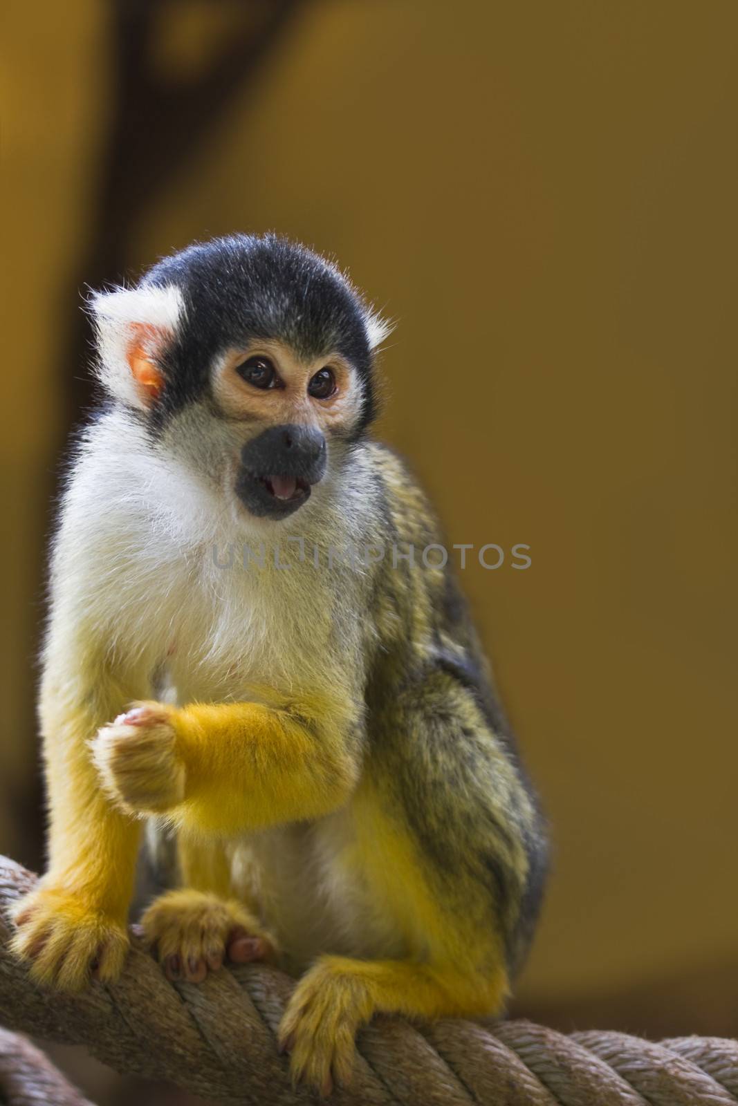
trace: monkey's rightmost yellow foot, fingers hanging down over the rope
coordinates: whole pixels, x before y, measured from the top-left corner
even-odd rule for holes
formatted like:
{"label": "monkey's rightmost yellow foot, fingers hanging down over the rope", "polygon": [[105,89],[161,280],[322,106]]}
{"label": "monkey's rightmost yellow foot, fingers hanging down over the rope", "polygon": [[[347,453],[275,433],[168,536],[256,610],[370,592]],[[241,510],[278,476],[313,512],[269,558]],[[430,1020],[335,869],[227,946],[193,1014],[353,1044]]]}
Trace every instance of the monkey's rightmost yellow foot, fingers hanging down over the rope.
{"label": "monkey's rightmost yellow foot, fingers hanging down over the rope", "polygon": [[373,1013],[367,984],[344,966],[337,957],[319,960],[300,980],[279,1027],[293,1084],[306,1083],[321,1095],[351,1083],[356,1030]]}

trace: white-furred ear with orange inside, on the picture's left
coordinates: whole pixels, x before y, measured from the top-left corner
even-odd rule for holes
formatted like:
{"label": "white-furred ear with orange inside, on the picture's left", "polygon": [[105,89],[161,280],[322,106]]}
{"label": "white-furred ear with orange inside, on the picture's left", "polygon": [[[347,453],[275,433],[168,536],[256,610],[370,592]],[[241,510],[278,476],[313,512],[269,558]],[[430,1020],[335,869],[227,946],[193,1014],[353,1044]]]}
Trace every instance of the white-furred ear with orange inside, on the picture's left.
{"label": "white-furred ear with orange inside, on the picture's left", "polygon": [[147,410],[164,388],[158,356],[184,313],[181,292],[165,288],[94,292],[89,302],[97,336],[97,376],[123,403]]}

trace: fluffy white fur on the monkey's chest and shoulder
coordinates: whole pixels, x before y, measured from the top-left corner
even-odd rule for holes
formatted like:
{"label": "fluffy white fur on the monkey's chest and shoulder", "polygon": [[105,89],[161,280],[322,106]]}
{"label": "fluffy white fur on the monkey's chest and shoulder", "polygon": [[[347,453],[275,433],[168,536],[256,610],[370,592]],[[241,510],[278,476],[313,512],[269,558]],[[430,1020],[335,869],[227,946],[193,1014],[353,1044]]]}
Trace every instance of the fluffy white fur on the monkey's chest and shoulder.
{"label": "fluffy white fur on the monkey's chest and shoulder", "polygon": [[345,474],[349,498],[336,502],[329,473],[294,520],[252,524],[232,497],[150,448],[126,448],[139,435],[113,413],[75,471],[55,557],[70,619],[139,679],[168,668],[180,701],[231,699],[249,681],[289,692],[330,680],[342,635],[356,637],[366,580],[328,551],[372,540],[371,503],[351,497]]}

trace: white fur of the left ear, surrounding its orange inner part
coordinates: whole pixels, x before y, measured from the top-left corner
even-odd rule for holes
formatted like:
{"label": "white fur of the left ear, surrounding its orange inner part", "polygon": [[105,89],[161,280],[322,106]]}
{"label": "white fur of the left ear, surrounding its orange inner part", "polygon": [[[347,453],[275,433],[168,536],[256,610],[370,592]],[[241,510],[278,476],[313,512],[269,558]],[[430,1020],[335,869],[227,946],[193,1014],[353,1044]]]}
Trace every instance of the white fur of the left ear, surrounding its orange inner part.
{"label": "white fur of the left ear, surrounding its orange inner part", "polygon": [[184,314],[181,292],[174,284],[118,288],[112,292],[93,292],[89,306],[95,320],[100,382],[116,399],[144,409],[146,405],[127,358],[134,326],[150,326],[160,331],[162,336],[173,334]]}

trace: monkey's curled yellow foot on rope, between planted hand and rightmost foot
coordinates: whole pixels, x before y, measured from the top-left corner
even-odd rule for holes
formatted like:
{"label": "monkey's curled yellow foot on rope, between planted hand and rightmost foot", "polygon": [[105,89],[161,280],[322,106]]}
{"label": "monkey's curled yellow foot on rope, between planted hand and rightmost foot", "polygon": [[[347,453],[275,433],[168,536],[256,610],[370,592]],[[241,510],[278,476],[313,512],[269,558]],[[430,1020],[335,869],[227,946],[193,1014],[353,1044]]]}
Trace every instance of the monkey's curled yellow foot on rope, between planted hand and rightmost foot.
{"label": "monkey's curled yellow foot on rope, between planted hand and rightmost foot", "polygon": [[226,957],[232,963],[277,960],[274,939],[233,899],[167,891],[152,902],[141,922],[147,946],[170,980],[201,983]]}

